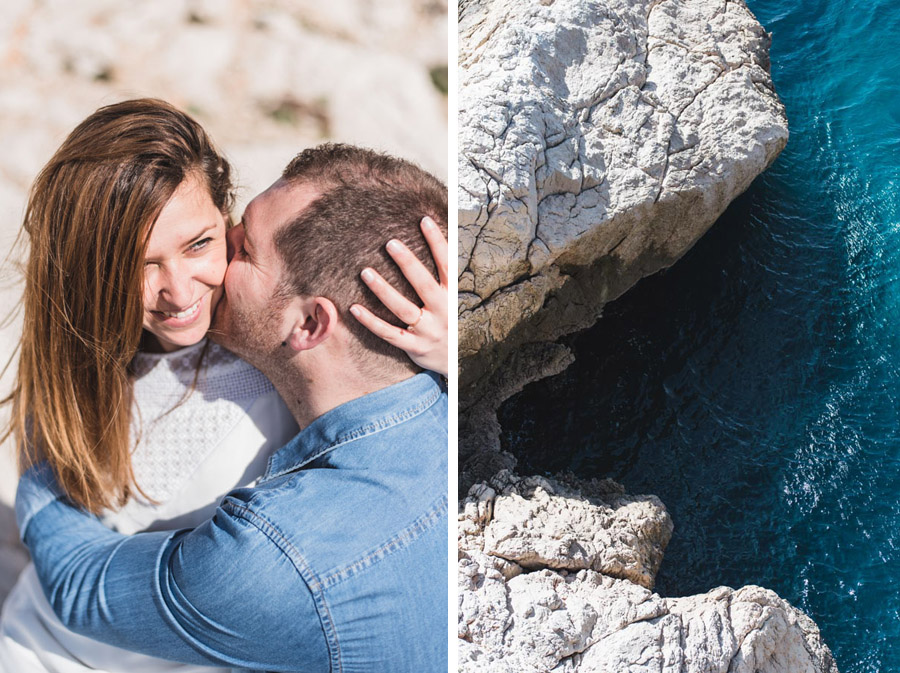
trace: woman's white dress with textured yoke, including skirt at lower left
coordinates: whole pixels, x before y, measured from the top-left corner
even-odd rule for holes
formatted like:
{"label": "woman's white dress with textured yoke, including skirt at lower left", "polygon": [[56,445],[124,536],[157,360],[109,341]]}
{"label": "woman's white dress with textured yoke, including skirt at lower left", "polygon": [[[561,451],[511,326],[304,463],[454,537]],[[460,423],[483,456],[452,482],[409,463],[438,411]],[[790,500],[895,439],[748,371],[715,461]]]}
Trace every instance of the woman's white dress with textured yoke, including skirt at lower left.
{"label": "woman's white dress with textured yoke, including skirt at lower left", "polygon": [[[174,353],[141,353],[133,369],[132,460],[147,497],[135,494],[103,517],[122,533],[193,528],[211,518],[223,495],[262,476],[272,452],[298,432],[268,379],[212,342]],[[165,661],[69,631],[53,613],[31,564],[3,605],[0,673],[228,670]]]}

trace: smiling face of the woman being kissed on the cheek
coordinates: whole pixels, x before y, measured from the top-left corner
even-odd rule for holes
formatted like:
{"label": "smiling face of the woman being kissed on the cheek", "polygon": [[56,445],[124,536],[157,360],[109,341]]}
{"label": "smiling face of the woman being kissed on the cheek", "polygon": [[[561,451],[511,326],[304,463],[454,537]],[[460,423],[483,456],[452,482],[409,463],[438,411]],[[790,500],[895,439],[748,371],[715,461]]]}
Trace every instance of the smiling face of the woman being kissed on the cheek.
{"label": "smiling face of the woman being kissed on the cheek", "polygon": [[225,218],[202,181],[189,177],[154,222],[144,258],[144,329],[155,337],[151,348],[169,352],[203,339],[227,266]]}

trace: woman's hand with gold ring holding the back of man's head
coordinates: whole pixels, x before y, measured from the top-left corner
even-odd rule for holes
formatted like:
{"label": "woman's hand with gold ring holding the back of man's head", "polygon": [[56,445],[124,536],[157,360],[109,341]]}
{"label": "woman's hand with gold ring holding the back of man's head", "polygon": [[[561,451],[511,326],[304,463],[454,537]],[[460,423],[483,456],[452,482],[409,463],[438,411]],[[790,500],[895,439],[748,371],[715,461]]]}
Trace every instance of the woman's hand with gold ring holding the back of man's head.
{"label": "woman's hand with gold ring holding the back of man's head", "polygon": [[422,233],[428,241],[431,256],[438,269],[440,282],[434,279],[425,265],[400,241],[392,240],[387,251],[412,285],[423,306],[416,306],[397,292],[374,269],[363,269],[362,279],[391,313],[407,324],[404,329],[391,325],[374,315],[365,306],[350,307],[353,316],[374,334],[396,346],[410,360],[424,369],[447,376],[449,369],[447,297],[447,240],[430,217],[422,219]]}

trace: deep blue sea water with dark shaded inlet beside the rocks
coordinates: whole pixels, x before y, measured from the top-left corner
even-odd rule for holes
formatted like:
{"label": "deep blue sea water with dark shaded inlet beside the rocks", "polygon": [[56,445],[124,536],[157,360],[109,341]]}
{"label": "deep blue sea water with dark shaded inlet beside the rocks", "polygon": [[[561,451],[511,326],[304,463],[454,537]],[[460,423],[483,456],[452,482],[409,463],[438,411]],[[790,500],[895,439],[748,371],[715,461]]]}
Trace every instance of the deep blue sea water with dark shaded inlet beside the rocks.
{"label": "deep blue sea water with dark shaded inlet beside the rocks", "polygon": [[791,138],[501,412],[524,473],[655,493],[657,590],[760,584],[843,673],[900,671],[900,4],[749,0]]}

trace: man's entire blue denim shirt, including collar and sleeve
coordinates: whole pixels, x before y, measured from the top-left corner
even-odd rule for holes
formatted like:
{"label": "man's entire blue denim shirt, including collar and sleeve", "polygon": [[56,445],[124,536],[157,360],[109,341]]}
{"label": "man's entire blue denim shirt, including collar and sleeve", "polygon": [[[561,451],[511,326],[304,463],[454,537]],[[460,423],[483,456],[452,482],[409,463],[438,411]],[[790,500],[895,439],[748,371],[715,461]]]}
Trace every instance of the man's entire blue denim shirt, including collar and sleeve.
{"label": "man's entire blue denim shirt, including collar and sleeve", "polygon": [[96,640],[267,671],[443,670],[447,413],[430,373],[332,409],[193,530],[111,531],[41,464],[19,530],[54,611]]}

